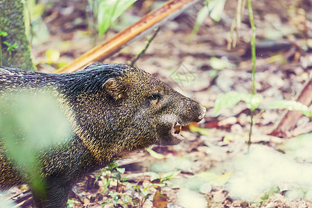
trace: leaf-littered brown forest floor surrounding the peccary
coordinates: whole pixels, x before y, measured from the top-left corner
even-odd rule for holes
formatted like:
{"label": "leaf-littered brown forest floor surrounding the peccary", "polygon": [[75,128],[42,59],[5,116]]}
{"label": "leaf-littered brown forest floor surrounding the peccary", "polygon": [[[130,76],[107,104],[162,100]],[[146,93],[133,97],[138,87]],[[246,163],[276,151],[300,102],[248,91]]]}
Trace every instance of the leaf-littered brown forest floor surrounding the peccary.
{"label": "leaf-littered brown forest floor surrounding the peccary", "polygon": [[[84,2],[46,6],[46,32],[34,36],[32,47],[39,71],[53,72],[53,67],[71,62],[94,45]],[[256,89],[263,101],[255,110],[250,148],[248,106],[240,102],[218,115],[214,112],[218,96],[252,92],[248,10],[243,12],[236,48],[227,50],[236,1],[227,1],[220,21],[207,17],[192,35],[197,5],[167,21],[136,66],[207,107],[205,121],[184,127],[184,141],[177,146],[137,151],[117,168],[88,175],[74,187],[69,206],[101,207],[107,202],[104,207],[312,207],[311,118],[302,116],[294,130],[270,135],[284,110],[259,114],[271,101],[295,100],[311,77],[311,2],[261,0],[252,1],[252,6]],[[105,38],[149,9],[135,4]],[[127,64],[145,44],[146,38],[132,42],[103,62]],[[60,59],[49,63],[48,49],[60,51]]]}

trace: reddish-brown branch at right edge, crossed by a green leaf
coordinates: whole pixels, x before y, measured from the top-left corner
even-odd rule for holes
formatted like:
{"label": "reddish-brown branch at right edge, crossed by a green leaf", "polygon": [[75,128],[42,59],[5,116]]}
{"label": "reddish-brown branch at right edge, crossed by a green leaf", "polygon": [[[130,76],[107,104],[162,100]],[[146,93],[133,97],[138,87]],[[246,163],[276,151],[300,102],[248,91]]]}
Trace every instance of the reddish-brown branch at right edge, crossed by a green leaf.
{"label": "reddish-brown branch at right edge, crossed by a green leaf", "polygon": [[[297,100],[298,102],[310,106],[312,102],[312,78],[304,85],[304,88],[300,92]],[[297,121],[302,117],[301,112],[297,111],[288,111],[282,117],[279,124],[273,130],[270,135],[279,136],[279,137],[286,137],[286,132],[290,132],[295,128]]]}

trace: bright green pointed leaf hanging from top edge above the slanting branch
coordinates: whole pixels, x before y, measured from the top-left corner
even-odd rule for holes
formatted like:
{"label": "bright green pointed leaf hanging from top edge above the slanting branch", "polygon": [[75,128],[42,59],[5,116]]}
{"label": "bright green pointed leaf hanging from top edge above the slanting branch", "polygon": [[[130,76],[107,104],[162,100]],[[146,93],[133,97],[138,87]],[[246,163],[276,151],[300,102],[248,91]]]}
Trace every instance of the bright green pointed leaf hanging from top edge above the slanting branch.
{"label": "bright green pointed leaf hanging from top edge above the slanting branch", "polygon": [[137,0],[101,0],[98,6],[98,35],[103,35],[121,14]]}

